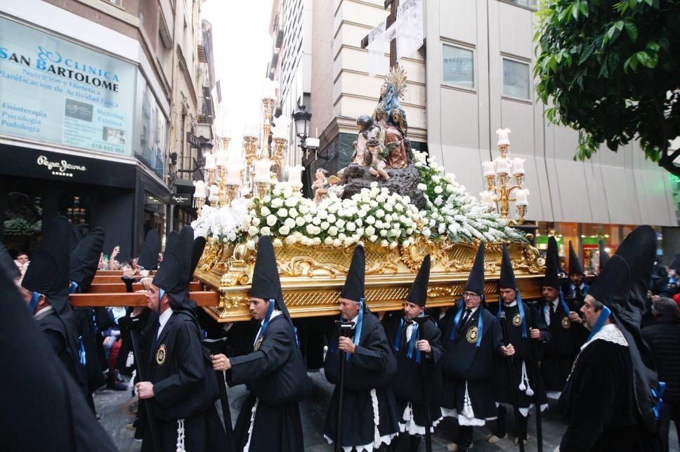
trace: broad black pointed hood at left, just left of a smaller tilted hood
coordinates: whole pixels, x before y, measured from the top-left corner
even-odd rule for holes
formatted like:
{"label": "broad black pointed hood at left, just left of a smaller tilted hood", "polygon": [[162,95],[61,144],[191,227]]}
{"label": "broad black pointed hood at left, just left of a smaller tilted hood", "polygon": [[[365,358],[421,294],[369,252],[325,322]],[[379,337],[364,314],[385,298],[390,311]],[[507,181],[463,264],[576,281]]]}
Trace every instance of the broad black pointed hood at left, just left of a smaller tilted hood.
{"label": "broad black pointed hood at left, just left of a smaller tilted hood", "polygon": [[42,293],[57,312],[68,304],[69,248],[73,227],[65,217],[54,217],[44,228],[21,285]]}

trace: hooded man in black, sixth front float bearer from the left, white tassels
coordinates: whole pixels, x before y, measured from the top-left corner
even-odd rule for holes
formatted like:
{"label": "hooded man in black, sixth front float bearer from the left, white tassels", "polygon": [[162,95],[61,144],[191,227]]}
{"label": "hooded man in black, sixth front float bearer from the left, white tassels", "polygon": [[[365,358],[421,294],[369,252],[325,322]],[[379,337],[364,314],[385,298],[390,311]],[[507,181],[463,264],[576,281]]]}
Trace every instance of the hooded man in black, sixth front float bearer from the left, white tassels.
{"label": "hooded man in black, sixth front float bearer from the left, white tassels", "polygon": [[[515,442],[523,440],[528,442],[527,423],[529,411],[535,401],[538,401],[538,409],[541,411],[548,407],[543,379],[538,371],[540,359],[540,347],[550,339],[550,333],[543,319],[537,315],[530,305],[523,303],[515,274],[512,270],[512,262],[508,247],[503,244],[503,260],[501,274],[498,281],[501,301],[498,306],[498,314],[505,312],[505,321],[508,334],[508,345],[504,353],[513,357],[511,366],[506,362],[506,357],[498,358],[496,363],[496,402],[497,422],[494,434],[488,437],[490,443],[500,441],[506,436],[505,414],[506,408],[502,404],[513,403],[512,392],[516,394],[520,418],[518,419],[518,436]],[[508,350],[509,349],[509,350]],[[511,385],[509,369],[514,373],[516,387]]]}

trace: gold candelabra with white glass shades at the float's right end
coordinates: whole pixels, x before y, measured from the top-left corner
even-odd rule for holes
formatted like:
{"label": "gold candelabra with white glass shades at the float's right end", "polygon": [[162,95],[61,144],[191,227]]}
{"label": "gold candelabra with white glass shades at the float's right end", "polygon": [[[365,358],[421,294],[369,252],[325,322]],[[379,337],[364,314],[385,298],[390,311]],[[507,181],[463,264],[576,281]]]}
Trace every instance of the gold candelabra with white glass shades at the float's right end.
{"label": "gold candelabra with white glass shades at the float's right end", "polygon": [[[500,157],[495,161],[485,161],[482,164],[486,190],[480,193],[483,204],[493,211],[494,204],[499,203],[499,213],[508,220],[509,225],[521,225],[525,221],[528,210],[527,196],[529,190],[523,187],[525,159],[509,158],[510,143],[509,129],[497,131],[499,133],[498,150]],[[510,203],[515,203],[517,218],[510,218]]]}

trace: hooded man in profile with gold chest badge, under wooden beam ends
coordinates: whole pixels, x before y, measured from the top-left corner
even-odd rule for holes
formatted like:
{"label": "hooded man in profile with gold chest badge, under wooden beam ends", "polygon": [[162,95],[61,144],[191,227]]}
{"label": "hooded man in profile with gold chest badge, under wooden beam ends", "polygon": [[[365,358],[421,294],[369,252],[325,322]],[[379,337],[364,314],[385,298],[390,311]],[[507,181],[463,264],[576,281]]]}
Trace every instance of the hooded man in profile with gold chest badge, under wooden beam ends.
{"label": "hooded man in profile with gold chest badge, under wooden beam ends", "polygon": [[[148,380],[136,384],[140,399],[151,402],[151,418],[159,451],[217,451],[226,442],[215,408],[217,380],[210,355],[201,345],[188,299],[193,230],[185,227],[166,249],[163,266],[147,293],[148,307],[159,312],[152,335]],[[145,432],[143,450],[151,450]]]}

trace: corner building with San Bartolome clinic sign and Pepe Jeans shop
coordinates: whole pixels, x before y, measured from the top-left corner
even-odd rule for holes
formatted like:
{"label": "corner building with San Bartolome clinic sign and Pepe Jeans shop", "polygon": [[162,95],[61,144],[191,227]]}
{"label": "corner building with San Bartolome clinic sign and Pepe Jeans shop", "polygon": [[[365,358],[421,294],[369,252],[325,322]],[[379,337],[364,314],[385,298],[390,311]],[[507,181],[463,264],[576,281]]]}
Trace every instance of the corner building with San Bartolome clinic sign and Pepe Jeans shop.
{"label": "corner building with San Bartolome clinic sign and Pepe Jeans shop", "polygon": [[185,131],[199,124],[200,3],[4,2],[0,240],[11,251],[30,252],[55,215],[103,227],[119,260],[173,227],[177,112]]}

